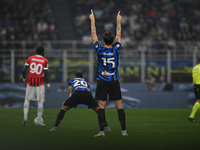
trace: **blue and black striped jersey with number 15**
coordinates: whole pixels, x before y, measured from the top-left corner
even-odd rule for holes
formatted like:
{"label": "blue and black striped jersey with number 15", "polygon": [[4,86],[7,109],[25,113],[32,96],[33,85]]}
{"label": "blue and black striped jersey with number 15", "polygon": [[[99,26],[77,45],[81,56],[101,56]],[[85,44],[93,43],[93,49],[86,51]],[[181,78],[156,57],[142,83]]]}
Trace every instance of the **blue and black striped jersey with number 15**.
{"label": "blue and black striped jersey with number 15", "polygon": [[120,54],[120,43],[115,46],[105,48],[98,42],[95,43],[94,49],[97,55],[97,80],[117,81],[119,80],[118,65]]}

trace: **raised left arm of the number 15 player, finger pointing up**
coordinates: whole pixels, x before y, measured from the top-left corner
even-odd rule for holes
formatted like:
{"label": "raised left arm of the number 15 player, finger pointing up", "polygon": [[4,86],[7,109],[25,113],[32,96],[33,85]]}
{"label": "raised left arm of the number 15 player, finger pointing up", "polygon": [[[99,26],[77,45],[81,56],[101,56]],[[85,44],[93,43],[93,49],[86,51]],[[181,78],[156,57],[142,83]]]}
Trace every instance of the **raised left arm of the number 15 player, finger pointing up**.
{"label": "raised left arm of the number 15 player, finger pointing up", "polygon": [[91,20],[91,35],[92,35],[92,40],[93,40],[93,44],[95,44],[96,42],[98,42],[98,37],[97,37],[97,33],[96,33],[95,17],[94,17],[94,13],[93,13],[92,9],[91,9],[91,14],[90,14],[89,18]]}

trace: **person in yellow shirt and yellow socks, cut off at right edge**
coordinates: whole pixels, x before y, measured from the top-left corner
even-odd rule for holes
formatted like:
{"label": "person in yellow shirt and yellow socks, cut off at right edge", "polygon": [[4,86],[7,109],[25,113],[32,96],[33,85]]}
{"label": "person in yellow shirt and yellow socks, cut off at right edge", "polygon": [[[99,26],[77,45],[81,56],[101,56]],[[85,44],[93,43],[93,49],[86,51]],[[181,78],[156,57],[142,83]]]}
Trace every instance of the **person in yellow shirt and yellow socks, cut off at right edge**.
{"label": "person in yellow shirt and yellow socks, cut off at right edge", "polygon": [[192,112],[188,118],[189,121],[196,122],[195,114],[200,108],[200,58],[198,59],[198,64],[192,69],[192,78],[193,78],[193,89],[196,96],[196,103],[192,108]]}

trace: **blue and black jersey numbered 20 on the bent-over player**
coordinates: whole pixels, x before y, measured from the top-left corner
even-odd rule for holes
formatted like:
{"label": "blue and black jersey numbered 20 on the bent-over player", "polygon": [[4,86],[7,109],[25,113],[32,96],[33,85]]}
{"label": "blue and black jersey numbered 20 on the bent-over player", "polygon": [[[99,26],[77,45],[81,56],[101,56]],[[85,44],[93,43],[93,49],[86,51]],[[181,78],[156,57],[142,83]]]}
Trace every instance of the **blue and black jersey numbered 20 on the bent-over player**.
{"label": "blue and black jersey numbered 20 on the bent-over player", "polygon": [[75,91],[90,91],[90,85],[83,78],[74,78],[69,81],[68,86],[72,87],[73,93]]}

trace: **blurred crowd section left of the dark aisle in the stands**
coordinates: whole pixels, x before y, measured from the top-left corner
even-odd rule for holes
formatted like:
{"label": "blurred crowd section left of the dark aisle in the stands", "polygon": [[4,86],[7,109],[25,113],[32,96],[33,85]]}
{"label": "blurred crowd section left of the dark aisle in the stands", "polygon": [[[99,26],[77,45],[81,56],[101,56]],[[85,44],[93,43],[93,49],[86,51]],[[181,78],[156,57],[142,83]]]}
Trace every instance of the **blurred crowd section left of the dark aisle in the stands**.
{"label": "blurred crowd section left of the dark aisle in the stands", "polygon": [[[13,46],[7,41],[43,41],[58,38],[58,27],[48,0],[0,1],[0,47],[2,49]],[[27,47],[31,47],[31,44]]]}

